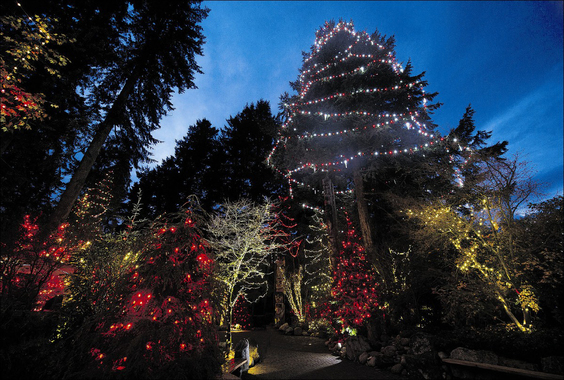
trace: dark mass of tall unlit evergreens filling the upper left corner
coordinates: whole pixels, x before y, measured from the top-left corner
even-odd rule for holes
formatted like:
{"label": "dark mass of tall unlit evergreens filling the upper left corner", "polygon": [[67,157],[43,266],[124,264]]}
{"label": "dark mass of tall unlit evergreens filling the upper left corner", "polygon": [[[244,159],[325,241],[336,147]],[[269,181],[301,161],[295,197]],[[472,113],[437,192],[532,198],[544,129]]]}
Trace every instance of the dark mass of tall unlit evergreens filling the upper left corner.
{"label": "dark mass of tall unlit evergreens filling the upper left corner", "polygon": [[[56,49],[69,61],[61,76],[37,62],[21,83],[56,108],[47,107],[46,118],[29,130],[2,131],[3,236],[30,212],[42,214],[45,232],[52,231],[108,169],[115,199],[126,194],[131,169],[151,161],[151,132],[172,109],[173,92],[195,88],[204,43],[199,23],[209,12],[200,3],[3,3],[2,14],[38,15],[65,35]],[[5,25],[2,32],[20,33]]]}

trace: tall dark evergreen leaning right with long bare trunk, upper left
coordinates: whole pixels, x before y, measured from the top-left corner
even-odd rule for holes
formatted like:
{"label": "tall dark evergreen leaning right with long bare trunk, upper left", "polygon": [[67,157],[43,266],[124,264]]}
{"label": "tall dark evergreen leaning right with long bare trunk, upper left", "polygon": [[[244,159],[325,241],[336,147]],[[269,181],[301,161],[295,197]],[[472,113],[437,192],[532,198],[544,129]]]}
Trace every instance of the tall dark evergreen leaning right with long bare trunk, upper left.
{"label": "tall dark evergreen leaning right with long bare trunk, upper left", "polygon": [[77,199],[96,158],[108,137],[115,135],[134,147],[130,162],[148,158],[148,146],[156,140],[151,132],[167,111],[175,89],[195,88],[195,61],[202,54],[204,36],[198,25],[208,9],[200,1],[129,3],[124,15],[120,44],[103,76],[87,83],[97,115],[94,133],[79,166],[73,172],[47,226],[52,229],[65,220]]}

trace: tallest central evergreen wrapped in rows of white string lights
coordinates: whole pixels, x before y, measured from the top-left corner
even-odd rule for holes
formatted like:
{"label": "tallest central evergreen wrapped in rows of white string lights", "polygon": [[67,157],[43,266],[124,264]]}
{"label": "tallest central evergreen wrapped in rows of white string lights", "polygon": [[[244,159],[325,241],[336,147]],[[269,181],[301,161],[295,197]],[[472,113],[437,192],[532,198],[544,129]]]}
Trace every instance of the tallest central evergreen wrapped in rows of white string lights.
{"label": "tallest central evergreen wrapped in rows of white string lights", "polygon": [[[352,22],[327,22],[304,53],[292,84],[297,95],[282,97],[286,120],[268,157],[293,186],[321,194],[325,179],[326,197],[354,190],[363,242],[379,272],[384,262],[375,257],[366,176],[440,141],[429,119],[436,94],[425,93],[423,74],[411,70],[409,62],[403,68],[396,61],[393,38],[356,32]],[[328,222],[336,231],[336,215]]]}

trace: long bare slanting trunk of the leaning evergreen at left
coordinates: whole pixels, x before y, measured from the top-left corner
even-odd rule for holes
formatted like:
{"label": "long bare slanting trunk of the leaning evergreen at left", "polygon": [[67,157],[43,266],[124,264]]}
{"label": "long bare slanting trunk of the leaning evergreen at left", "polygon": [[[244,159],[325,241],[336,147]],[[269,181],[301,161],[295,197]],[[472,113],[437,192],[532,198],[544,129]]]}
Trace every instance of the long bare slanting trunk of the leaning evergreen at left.
{"label": "long bare slanting trunk of the leaning evergreen at left", "polygon": [[55,207],[53,213],[49,216],[46,224],[45,233],[49,234],[54,231],[61,223],[63,223],[69,216],[72,206],[76,202],[80,191],[82,190],[86,178],[92,170],[94,162],[100,154],[100,150],[104,145],[104,142],[112,132],[113,127],[116,125],[117,120],[119,120],[120,114],[125,107],[125,103],[131,94],[131,91],[135,87],[136,82],[139,80],[142,68],[137,66],[136,69],[131,73],[127,82],[121,89],[118,97],[114,101],[112,108],[106,114],[106,117],[102,123],[98,126],[98,131],[94,135],[88,149],[84,153],[80,165],[74,172],[71,180],[67,184],[64,193],[61,195],[59,203]]}

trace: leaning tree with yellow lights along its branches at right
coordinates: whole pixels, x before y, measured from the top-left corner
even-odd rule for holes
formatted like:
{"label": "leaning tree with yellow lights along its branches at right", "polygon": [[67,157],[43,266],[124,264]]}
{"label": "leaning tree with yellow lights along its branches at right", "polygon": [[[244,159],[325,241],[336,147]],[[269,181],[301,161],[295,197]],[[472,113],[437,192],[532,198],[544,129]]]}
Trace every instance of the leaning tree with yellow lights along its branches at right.
{"label": "leaning tree with yellow lights along its branches at right", "polygon": [[408,215],[422,223],[422,239],[430,239],[429,243],[445,239],[454,248],[455,264],[467,274],[456,289],[465,291],[467,282],[477,281],[485,297],[498,302],[512,323],[529,331],[539,301],[535,284],[527,281],[521,268],[528,258],[518,255],[514,224],[519,208],[538,193],[538,184],[518,158],[492,158],[482,162],[481,169],[479,203],[458,206],[437,201]]}

